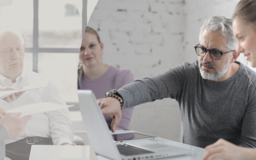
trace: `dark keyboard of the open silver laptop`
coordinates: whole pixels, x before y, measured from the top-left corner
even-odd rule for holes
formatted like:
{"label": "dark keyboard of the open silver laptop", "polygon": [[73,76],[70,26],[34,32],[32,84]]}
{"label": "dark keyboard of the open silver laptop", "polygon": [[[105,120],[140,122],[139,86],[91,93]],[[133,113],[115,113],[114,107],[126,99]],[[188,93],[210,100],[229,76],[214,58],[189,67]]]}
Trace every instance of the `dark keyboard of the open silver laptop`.
{"label": "dark keyboard of the open silver laptop", "polygon": [[145,150],[145,149],[141,149],[138,147],[134,147],[131,145],[116,145],[116,147],[118,148],[120,154],[124,155],[124,156],[133,156],[136,154],[149,154],[149,153],[154,153],[151,152],[149,150]]}

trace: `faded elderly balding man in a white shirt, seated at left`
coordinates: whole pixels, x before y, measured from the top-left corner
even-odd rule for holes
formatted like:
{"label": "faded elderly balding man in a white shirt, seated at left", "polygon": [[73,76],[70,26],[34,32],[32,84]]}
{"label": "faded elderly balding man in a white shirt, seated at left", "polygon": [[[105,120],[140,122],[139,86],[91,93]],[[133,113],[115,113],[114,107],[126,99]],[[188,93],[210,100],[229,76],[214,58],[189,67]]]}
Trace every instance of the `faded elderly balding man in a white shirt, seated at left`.
{"label": "faded elderly balding man in a white shirt, seated at left", "polygon": [[[0,32],[0,86],[24,88],[38,81],[44,81],[46,82],[45,87],[27,91],[14,102],[8,103],[1,100],[0,105],[8,111],[9,109],[38,102],[65,104],[65,101],[61,98],[60,91],[52,83],[51,79],[23,69],[24,52],[25,44],[21,35],[15,31]],[[29,120],[22,136],[17,139],[6,140],[6,157],[8,157],[8,150],[16,152],[17,148],[15,146],[19,146],[20,143],[24,143],[24,145],[29,143],[41,144],[40,141],[49,143],[48,140],[50,139],[49,144],[53,143],[53,145],[76,145],[72,143],[73,138],[74,129],[70,122],[68,109],[37,113]],[[19,145],[17,145],[18,143]],[[12,150],[12,148],[15,148],[15,150]],[[13,159],[12,157],[10,158]]]}

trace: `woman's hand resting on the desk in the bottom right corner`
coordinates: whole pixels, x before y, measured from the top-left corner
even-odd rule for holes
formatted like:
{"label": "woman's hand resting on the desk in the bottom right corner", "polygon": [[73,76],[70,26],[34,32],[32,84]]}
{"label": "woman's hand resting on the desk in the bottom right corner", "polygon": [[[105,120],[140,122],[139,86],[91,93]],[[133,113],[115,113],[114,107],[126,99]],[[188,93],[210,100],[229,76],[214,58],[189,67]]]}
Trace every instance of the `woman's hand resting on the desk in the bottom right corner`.
{"label": "woman's hand resting on the desk in the bottom right corner", "polygon": [[226,140],[220,139],[205,147],[204,157],[202,160],[253,160],[256,157],[255,148],[244,148],[234,145]]}

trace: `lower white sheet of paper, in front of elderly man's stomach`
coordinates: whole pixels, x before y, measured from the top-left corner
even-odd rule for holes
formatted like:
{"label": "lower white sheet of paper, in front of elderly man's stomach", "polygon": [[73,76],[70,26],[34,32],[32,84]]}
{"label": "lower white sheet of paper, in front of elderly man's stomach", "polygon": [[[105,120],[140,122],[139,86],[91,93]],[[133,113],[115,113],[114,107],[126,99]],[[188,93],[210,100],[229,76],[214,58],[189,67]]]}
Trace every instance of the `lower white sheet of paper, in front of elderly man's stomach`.
{"label": "lower white sheet of paper, in front of elderly man's stomach", "polygon": [[17,113],[21,112],[20,117],[33,115],[35,113],[45,113],[48,111],[55,111],[58,109],[70,108],[74,105],[61,105],[61,104],[54,104],[50,102],[41,102],[35,104],[28,104],[25,106],[21,106],[19,108],[14,108],[6,111],[7,113]]}

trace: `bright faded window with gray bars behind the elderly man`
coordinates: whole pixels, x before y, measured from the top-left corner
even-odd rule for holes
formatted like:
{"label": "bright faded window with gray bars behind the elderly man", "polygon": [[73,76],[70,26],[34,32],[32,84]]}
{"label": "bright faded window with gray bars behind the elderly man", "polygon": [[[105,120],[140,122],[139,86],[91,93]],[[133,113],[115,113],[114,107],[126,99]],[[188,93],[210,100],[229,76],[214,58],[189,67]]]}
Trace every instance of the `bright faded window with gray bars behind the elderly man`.
{"label": "bright faded window with gray bars behind the elderly man", "polygon": [[77,63],[86,0],[0,0],[0,28],[24,36],[24,68],[51,77],[68,104],[78,103]]}

